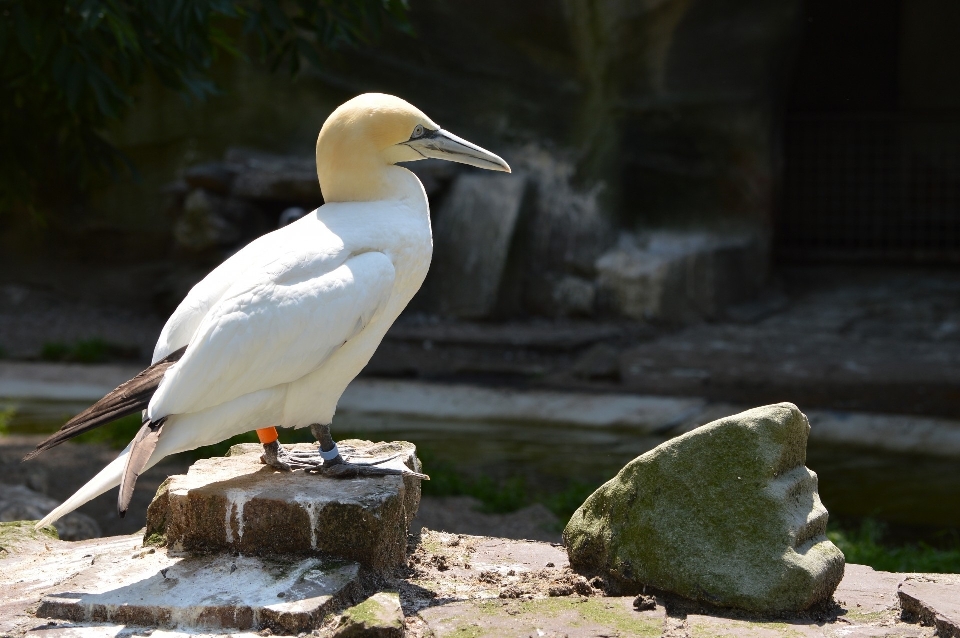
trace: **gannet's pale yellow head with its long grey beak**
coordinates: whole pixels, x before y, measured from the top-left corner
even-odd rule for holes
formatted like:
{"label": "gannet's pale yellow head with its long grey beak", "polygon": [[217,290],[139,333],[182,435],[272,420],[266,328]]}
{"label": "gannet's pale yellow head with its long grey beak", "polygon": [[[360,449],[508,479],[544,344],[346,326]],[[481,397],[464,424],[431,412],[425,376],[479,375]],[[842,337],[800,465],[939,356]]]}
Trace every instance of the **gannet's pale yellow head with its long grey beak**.
{"label": "gannet's pale yellow head with its long grey beak", "polygon": [[317,177],[327,202],[388,196],[388,167],[428,157],[510,172],[493,153],[441,129],[412,104],[365,93],[341,104],[317,137]]}

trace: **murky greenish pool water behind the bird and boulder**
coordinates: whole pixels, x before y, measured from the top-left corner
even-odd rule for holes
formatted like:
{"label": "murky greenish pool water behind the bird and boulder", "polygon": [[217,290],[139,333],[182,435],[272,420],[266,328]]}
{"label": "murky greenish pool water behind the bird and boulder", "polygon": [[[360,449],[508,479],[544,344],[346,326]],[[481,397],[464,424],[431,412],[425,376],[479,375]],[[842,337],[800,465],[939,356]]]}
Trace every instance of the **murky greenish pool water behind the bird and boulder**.
{"label": "murky greenish pool water behind the bird and boulder", "polygon": [[[52,432],[85,407],[20,402],[8,429]],[[412,441],[420,448],[428,473],[433,464],[466,477],[489,477],[494,483],[522,481],[532,498],[568,492],[576,502],[628,461],[666,440],[629,428],[452,422],[366,413],[338,414],[333,428],[339,439]],[[281,433],[281,440],[290,438],[290,433]],[[807,466],[820,477],[820,496],[832,518],[871,517],[906,536],[960,528],[960,460],[811,444]]]}

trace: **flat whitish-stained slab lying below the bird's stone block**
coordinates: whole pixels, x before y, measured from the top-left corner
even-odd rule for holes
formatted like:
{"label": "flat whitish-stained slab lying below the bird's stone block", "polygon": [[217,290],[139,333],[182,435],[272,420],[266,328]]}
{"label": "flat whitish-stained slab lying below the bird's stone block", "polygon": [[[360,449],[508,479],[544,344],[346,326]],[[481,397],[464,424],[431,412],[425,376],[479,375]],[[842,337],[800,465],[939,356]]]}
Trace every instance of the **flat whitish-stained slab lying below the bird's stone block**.
{"label": "flat whitish-stained slab lying below the bird's stone block", "polygon": [[[357,563],[224,554],[94,563],[43,597],[41,618],[141,627],[309,631],[359,591]],[[132,558],[132,557],[131,557]]]}

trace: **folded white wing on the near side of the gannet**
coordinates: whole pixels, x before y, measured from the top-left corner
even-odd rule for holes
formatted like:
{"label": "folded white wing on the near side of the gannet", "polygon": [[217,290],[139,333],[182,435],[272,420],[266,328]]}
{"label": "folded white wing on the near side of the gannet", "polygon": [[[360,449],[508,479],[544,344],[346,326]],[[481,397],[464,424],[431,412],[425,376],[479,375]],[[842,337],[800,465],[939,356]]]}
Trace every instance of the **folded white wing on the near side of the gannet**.
{"label": "folded white wing on the near side of the gannet", "polygon": [[295,255],[247,272],[206,313],[148,415],[196,412],[316,370],[383,309],[395,271],[380,252]]}

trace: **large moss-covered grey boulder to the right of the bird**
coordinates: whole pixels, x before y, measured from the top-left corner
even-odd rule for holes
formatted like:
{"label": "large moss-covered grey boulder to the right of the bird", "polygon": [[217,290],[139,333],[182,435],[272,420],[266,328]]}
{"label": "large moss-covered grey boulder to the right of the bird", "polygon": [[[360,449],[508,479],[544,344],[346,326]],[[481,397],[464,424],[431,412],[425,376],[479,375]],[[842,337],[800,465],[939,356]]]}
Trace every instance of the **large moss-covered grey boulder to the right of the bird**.
{"label": "large moss-covered grey boulder to the right of the bird", "polygon": [[844,557],[825,536],[807,418],[790,403],[704,425],[627,464],[563,532],[571,565],[754,612],[828,599]]}

